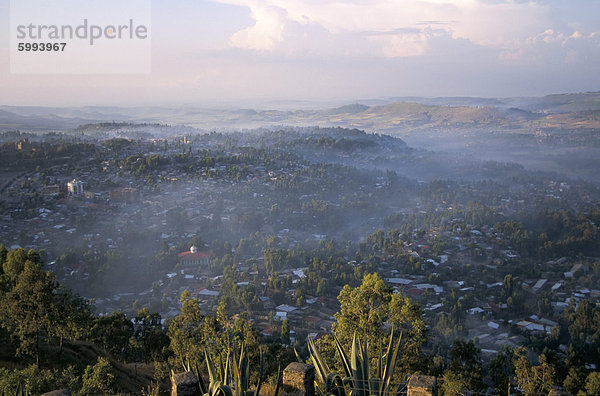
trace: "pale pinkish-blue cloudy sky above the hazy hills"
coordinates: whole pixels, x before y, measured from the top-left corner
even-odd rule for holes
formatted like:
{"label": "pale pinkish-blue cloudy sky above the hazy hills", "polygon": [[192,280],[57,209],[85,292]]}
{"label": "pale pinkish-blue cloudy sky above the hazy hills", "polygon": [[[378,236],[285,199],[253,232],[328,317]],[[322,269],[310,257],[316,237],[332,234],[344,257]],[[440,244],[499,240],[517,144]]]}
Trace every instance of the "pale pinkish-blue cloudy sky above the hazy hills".
{"label": "pale pinkish-blue cloudy sky above the hazy hills", "polygon": [[268,107],[600,90],[598,0],[148,1],[149,73],[18,74],[10,0],[0,0],[0,105]]}

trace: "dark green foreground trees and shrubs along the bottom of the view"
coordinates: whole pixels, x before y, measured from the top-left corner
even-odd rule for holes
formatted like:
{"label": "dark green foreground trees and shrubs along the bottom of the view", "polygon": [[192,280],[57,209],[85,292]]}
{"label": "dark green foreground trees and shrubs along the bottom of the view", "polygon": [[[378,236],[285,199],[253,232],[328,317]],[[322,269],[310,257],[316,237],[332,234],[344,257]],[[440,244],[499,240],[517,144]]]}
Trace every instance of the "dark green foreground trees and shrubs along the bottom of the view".
{"label": "dark green foreground trees and shrubs along the bottom of the view", "polygon": [[[43,270],[38,252],[8,251],[0,246],[0,261],[0,389],[9,392],[17,387],[31,394],[59,388],[77,394],[158,392],[168,386],[171,370],[195,367],[202,376],[216,378],[211,361],[227,361],[230,353],[240,350],[240,359],[246,362],[244,383],[264,381],[271,389],[276,387],[281,367],[304,356],[316,364],[327,392],[332,392],[329,387],[345,386],[341,377],[329,376],[330,368],[351,377],[358,370],[351,369],[356,364],[362,365],[365,376],[371,365],[383,381],[378,386],[369,382],[378,389],[371,394],[390,384],[397,386],[417,372],[440,376],[441,389],[448,395],[467,389],[482,391],[485,384],[501,394],[509,381],[515,391],[528,395],[544,394],[555,385],[582,395],[600,391],[600,373],[584,367],[586,356],[597,356],[600,351],[600,309],[585,301],[564,317],[570,335],[566,359],[552,352],[559,337],[552,334],[538,340],[533,349],[545,346],[535,359],[531,359],[531,349],[506,349],[484,367],[473,341],[456,340],[447,356],[424,349],[427,327],[421,307],[394,293],[376,273],[366,274],[358,287],[346,286],[338,296],[340,312],[333,335],[309,339],[308,344],[299,340],[296,355],[294,348],[285,345],[289,338],[285,321],[281,338],[265,342],[244,314],[233,319],[222,302],[214,314],[201,315],[198,300],[189,293],[181,296],[181,313],[165,326],[160,315],[146,309],[134,318],[120,312],[95,316],[88,301]],[[397,329],[395,334],[392,328]],[[384,345],[388,345],[387,353],[382,355]],[[351,358],[345,350],[352,351]],[[387,363],[377,363],[382,358]],[[387,371],[381,371],[386,366]],[[218,375],[231,374],[221,369]],[[347,384],[356,387],[357,383]]]}

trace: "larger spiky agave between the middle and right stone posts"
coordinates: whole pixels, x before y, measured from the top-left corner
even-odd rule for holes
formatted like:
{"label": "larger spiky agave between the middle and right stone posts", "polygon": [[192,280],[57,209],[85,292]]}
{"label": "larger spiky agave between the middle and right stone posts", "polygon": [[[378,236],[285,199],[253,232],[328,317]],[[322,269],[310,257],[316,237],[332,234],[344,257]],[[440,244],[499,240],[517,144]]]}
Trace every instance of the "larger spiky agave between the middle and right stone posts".
{"label": "larger spiky agave between the middle and right stone posts", "polygon": [[399,387],[392,384],[392,378],[398,360],[402,333],[400,333],[394,347],[394,331],[392,330],[386,352],[379,354],[376,377],[370,375],[367,347],[360,342],[360,338],[357,337],[356,333],[352,339],[350,358],[348,358],[342,344],[335,335],[333,339],[344,368],[344,378],[329,370],[314,341],[312,339],[308,340],[308,350],[315,365],[317,377],[325,385],[324,391],[317,388],[321,396],[345,396],[346,385],[350,386],[351,396],[386,396],[398,393]]}

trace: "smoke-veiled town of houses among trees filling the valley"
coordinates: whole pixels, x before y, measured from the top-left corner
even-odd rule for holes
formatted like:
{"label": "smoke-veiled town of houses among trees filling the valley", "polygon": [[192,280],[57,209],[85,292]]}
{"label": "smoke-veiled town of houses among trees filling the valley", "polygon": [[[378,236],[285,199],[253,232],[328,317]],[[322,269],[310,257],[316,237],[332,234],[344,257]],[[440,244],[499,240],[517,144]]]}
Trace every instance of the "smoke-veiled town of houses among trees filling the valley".
{"label": "smoke-veiled town of houses among trees filling the valley", "polygon": [[[377,170],[318,175],[323,164],[279,151],[255,155],[231,143],[210,157],[224,138],[114,139],[94,143],[88,156],[7,174],[0,240],[11,249],[44,251],[57,280],[92,298],[100,315],[149,307],[164,323],[180,313],[184,291],[210,314],[233,282],[247,294],[243,308],[259,334],[279,334],[287,319],[292,344],[330,334],[339,310],[343,283],[327,279],[327,271],[317,275],[314,257],[341,261],[351,282],[376,270],[395,292],[421,304],[432,343],[475,340],[484,358],[534,334],[552,335],[562,312],[582,299],[598,302],[600,288],[590,277],[597,277],[597,259],[566,255],[528,260],[523,268],[511,236],[477,218],[511,218],[536,202],[583,207],[593,200],[585,184],[541,177],[497,192],[501,183],[415,183]],[[15,147],[35,152],[44,144],[25,138]],[[344,161],[351,152],[338,155]],[[190,172],[194,157],[206,166]],[[337,184],[329,184],[331,176]],[[283,185],[290,181],[299,187]],[[321,189],[302,188],[315,181]],[[428,189],[439,191],[426,195]],[[491,201],[490,191],[497,192]],[[362,211],[348,204],[363,197],[369,203]],[[493,215],[475,208],[467,218],[478,199],[490,202],[484,209]],[[431,213],[436,224],[414,223]],[[399,232],[394,227],[402,223],[416,226]],[[267,264],[274,250],[303,252],[275,265],[269,257]],[[307,286],[315,276],[325,287]]]}

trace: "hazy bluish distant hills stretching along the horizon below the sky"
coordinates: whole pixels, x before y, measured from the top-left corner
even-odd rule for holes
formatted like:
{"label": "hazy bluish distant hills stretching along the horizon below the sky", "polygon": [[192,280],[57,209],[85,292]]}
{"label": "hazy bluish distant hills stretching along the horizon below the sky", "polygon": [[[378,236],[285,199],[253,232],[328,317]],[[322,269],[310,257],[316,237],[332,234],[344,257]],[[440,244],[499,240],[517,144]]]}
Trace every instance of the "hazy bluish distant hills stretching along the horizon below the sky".
{"label": "hazy bluish distant hills stretching along the horizon below the sky", "polygon": [[[493,127],[529,133],[539,128],[597,128],[600,92],[540,98],[398,97],[309,110],[199,107],[15,107],[0,106],[0,131],[70,129],[94,122],[167,123],[195,128],[238,129],[281,125],[342,126],[403,132],[428,128]],[[559,116],[560,115],[560,116]]]}

